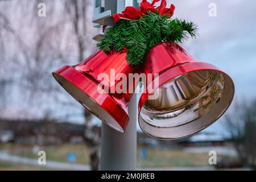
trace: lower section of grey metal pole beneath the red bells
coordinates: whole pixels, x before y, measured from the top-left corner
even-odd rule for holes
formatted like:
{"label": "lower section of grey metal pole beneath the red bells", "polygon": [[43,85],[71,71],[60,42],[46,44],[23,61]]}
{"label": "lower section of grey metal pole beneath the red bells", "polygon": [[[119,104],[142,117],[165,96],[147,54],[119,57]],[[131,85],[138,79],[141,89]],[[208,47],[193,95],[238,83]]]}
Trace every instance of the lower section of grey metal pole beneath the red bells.
{"label": "lower section of grey metal pole beneath the red bells", "polygon": [[124,134],[102,123],[101,170],[137,169],[137,112],[137,94],[134,94],[129,105],[130,122]]}

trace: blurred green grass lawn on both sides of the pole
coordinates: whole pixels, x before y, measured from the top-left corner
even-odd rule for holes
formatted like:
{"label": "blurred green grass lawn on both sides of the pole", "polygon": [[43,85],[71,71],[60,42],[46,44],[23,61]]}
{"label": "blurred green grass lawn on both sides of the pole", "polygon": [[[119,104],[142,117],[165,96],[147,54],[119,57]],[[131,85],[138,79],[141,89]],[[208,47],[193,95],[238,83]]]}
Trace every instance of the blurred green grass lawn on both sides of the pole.
{"label": "blurred green grass lawn on both sides of the pole", "polygon": [[[11,154],[25,158],[38,159],[38,155],[32,152],[32,147],[21,147],[8,144],[0,148],[11,151]],[[89,152],[85,144],[63,144],[60,146],[40,147],[40,150],[46,151],[46,159],[55,162],[66,162],[67,154],[75,152],[77,155],[77,164],[89,164]],[[207,154],[191,154],[180,150],[152,150],[148,148],[146,159],[141,158],[141,148],[137,150],[138,168],[166,168],[166,167],[199,167],[208,166]],[[2,163],[1,168],[16,168],[14,164]],[[20,166],[18,165],[18,168]],[[37,168],[37,167],[28,167]],[[40,168],[39,168],[40,169]]]}

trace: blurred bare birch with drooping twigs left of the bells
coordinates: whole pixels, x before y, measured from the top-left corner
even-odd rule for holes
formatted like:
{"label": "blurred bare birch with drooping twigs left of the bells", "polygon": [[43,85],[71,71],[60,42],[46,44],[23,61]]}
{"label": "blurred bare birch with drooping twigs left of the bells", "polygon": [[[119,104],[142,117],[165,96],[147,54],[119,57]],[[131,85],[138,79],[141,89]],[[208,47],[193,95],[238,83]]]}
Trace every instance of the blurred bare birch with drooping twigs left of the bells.
{"label": "blurred bare birch with drooping twigs left of the bells", "polygon": [[[37,15],[40,2],[46,3],[46,17]],[[92,29],[89,13],[93,9],[92,3],[91,0],[0,0],[0,69],[3,69],[5,76],[4,79],[0,78],[0,84],[5,84],[2,80],[10,80],[6,78],[7,71],[15,71],[14,84],[19,91],[7,94],[13,97],[18,93],[18,99],[13,97],[15,104],[22,107],[27,103],[28,110],[37,111],[37,117],[40,112],[44,117],[49,111],[51,117],[56,117],[56,105],[76,110],[73,113],[80,111],[85,120],[84,141],[89,148],[90,163],[92,169],[97,170],[100,132],[94,126],[93,115],[81,110],[80,105],[51,76],[51,71],[63,64],[76,64],[96,49],[91,46],[93,31],[96,31]],[[5,96],[1,98],[3,101]],[[53,100],[56,101],[54,105]],[[63,115],[51,119],[59,121]]]}

